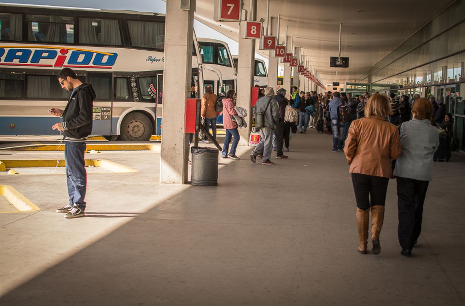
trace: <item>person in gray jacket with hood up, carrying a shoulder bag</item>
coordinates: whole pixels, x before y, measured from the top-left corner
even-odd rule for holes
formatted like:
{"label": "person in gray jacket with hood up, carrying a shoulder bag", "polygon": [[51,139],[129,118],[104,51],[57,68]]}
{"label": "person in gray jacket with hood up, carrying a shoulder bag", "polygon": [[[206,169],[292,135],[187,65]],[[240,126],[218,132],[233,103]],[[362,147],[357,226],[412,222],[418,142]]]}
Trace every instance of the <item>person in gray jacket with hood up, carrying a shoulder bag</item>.
{"label": "person in gray jacket with hood up, carrying a shoulder bag", "polygon": [[262,157],[262,165],[274,165],[270,161],[272,152],[272,137],[275,126],[279,124],[279,107],[278,102],[273,98],[274,90],[272,87],[266,87],[265,96],[258,99],[253,106],[253,116],[257,113],[264,113],[264,127],[260,129],[260,142],[255,147],[255,150],[250,154],[250,160],[255,163],[257,156]]}

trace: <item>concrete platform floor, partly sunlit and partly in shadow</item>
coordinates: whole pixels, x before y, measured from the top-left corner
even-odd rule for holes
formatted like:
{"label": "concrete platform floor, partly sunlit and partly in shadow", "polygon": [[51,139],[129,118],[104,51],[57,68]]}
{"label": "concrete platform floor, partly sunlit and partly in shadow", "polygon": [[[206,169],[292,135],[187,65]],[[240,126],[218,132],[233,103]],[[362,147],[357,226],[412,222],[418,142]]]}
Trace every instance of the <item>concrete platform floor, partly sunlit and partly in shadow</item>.
{"label": "concrete platform floor, partly sunlit and partly in shadow", "polygon": [[357,252],[348,166],[331,148],[330,135],[294,134],[290,158],[265,167],[239,147],[217,187],[159,184],[151,151],[102,152],[139,172],[90,174],[79,219],[55,213],[64,175],[0,176],[41,208],[0,214],[0,305],[465,305],[465,155],[434,164],[405,258],[394,180],[381,254]]}

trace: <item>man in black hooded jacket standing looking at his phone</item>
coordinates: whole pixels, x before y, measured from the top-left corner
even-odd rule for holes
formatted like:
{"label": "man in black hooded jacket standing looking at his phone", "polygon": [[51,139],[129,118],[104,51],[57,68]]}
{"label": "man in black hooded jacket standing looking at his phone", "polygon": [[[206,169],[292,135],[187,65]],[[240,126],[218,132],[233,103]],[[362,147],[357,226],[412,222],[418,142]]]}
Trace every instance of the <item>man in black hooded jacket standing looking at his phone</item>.
{"label": "man in black hooded jacket standing looking at his phone", "polygon": [[57,209],[57,213],[66,213],[65,218],[84,216],[86,209],[87,173],[84,161],[86,140],[92,132],[92,106],[95,92],[92,85],[82,83],[70,68],[58,73],[61,88],[70,91],[64,110],[53,107],[48,111],[53,116],[62,117],[63,122],[52,126],[59,130],[65,140],[66,182],[68,184],[69,204]]}

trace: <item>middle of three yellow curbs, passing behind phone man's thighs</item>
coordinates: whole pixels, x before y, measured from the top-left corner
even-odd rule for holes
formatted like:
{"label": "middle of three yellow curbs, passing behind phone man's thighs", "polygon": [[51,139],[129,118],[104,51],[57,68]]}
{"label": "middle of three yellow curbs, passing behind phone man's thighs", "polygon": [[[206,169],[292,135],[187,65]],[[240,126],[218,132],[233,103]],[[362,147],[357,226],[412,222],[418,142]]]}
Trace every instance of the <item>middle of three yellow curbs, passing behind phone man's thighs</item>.
{"label": "middle of three yellow curbs, passing behind phone man's thighs", "polygon": [[[11,160],[3,160],[2,161],[7,168],[54,168],[57,167],[57,160],[56,159],[11,159]],[[110,162],[106,159],[86,159],[86,167],[93,166],[93,167],[101,167],[111,173],[133,173],[138,172],[135,169],[120,165],[118,163]],[[65,160],[60,159],[58,160],[58,167],[65,167]],[[101,172],[100,172],[101,173]],[[20,174],[13,169],[8,171],[8,174]],[[49,175],[49,173],[41,173]],[[60,174],[60,173],[56,173]],[[95,174],[95,173],[93,173]],[[98,174],[98,173],[97,173]],[[5,175],[5,174],[0,174]],[[21,174],[20,174],[21,175]],[[22,174],[25,175],[25,174]],[[34,175],[34,174],[30,174]],[[39,174],[35,174],[39,175]]]}

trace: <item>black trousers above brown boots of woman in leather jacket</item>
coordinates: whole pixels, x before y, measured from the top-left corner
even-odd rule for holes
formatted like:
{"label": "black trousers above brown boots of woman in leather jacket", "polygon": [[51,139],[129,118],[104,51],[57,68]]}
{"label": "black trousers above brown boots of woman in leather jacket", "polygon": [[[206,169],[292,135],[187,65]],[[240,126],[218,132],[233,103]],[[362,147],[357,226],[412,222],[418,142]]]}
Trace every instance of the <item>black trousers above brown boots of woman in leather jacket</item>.
{"label": "black trousers above brown boots of woman in leather jacket", "polygon": [[352,173],[352,185],[357,207],[367,210],[371,206],[384,206],[388,183],[387,177]]}

